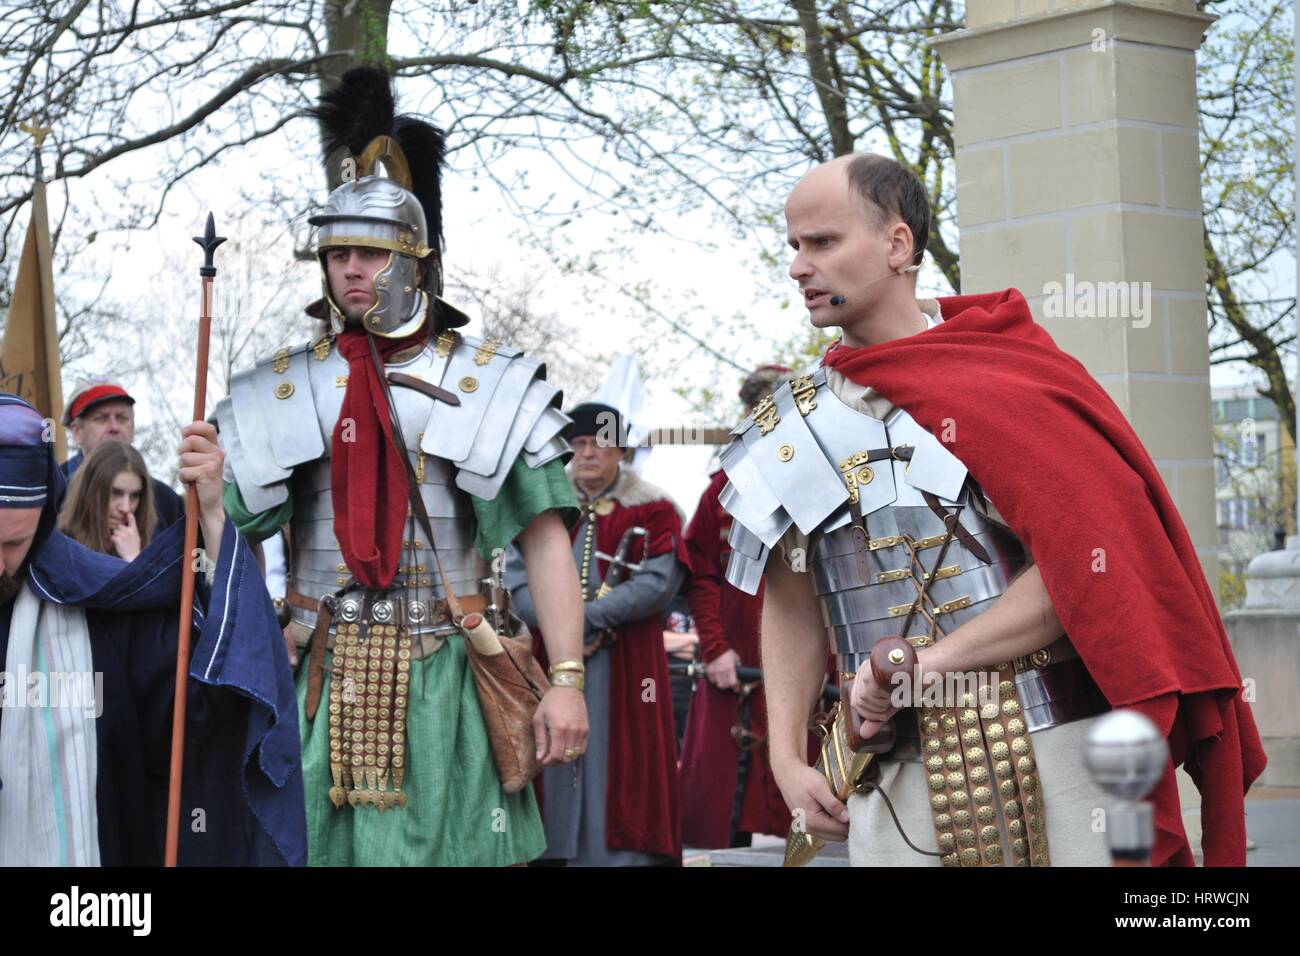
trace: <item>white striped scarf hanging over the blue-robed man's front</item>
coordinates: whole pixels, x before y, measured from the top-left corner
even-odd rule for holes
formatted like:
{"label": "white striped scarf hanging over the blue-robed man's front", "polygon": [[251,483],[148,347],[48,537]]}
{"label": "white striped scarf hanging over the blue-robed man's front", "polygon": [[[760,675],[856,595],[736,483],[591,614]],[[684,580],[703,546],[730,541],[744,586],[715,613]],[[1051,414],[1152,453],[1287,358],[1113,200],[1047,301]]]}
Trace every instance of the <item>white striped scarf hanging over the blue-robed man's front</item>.
{"label": "white striped scarf hanging over the blue-robed man's front", "polygon": [[0,866],[99,866],[95,713],[101,702],[92,700],[99,684],[86,611],[42,601],[25,581],[4,663]]}

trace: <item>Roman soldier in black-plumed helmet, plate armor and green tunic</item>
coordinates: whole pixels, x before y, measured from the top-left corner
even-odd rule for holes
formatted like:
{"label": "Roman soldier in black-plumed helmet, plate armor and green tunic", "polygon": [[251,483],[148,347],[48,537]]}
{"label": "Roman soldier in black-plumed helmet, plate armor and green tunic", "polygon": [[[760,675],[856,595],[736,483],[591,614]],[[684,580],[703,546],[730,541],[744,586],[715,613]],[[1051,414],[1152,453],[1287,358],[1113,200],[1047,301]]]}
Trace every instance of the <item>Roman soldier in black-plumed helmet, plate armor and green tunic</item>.
{"label": "Roman soldier in black-plumed helmet, plate armor and green tunic", "polygon": [[507,631],[489,562],[519,538],[567,671],[538,705],[538,757],[573,762],[568,419],[545,367],[460,332],[441,298],[442,133],[395,116],[374,69],[344,74],[316,116],[326,155],[351,157],[309,220],[324,297],[308,312],[328,328],[234,376],[217,407],[226,510],[251,540],[289,532],[309,862],[525,862],[545,848],[536,797],[502,787],[447,589]]}

